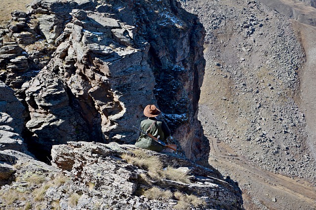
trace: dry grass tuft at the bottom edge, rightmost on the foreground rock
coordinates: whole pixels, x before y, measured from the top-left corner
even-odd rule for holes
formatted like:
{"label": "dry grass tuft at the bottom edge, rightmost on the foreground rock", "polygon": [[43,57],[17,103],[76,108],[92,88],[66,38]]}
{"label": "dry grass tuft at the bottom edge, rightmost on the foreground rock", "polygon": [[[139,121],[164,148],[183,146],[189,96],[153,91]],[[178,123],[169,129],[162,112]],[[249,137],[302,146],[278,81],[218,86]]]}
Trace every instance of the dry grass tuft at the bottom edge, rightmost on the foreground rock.
{"label": "dry grass tuft at the bottom edge, rightmost on the foreground rock", "polygon": [[173,208],[176,210],[189,210],[191,206],[194,207],[204,207],[206,205],[205,201],[198,198],[195,195],[187,195],[181,192],[175,192],[174,197],[178,199],[177,205]]}

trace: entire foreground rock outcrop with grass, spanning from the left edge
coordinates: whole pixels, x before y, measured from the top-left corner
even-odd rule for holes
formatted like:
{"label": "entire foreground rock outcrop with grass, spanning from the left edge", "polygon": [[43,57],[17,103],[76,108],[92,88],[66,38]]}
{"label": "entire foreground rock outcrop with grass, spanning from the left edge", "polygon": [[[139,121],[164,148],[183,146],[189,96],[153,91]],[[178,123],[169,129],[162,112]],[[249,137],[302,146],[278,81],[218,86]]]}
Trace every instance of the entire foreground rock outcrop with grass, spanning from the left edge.
{"label": "entire foreground rock outcrop with grass, spanning from the left edge", "polygon": [[[224,179],[215,169],[204,168],[177,155],[141,151],[148,155],[147,158],[156,158],[157,172],[159,164],[161,170],[169,170],[167,166],[172,166],[178,174],[186,172],[189,180],[153,179],[147,167],[130,164],[122,158],[124,154],[139,154],[139,149],[130,145],[69,142],[68,145],[53,146],[53,166],[21,152],[6,150],[0,151],[0,161],[5,164],[0,163],[0,171],[6,172],[0,173],[0,181],[4,176],[6,180],[15,181],[0,189],[0,208],[242,209],[241,192],[236,183]],[[160,193],[168,192],[168,197],[144,196],[153,188]],[[176,197],[180,193],[189,196],[187,200],[197,197],[195,201],[199,202],[184,202]],[[8,202],[9,198],[14,198],[13,202]],[[181,206],[181,203],[186,205]]]}

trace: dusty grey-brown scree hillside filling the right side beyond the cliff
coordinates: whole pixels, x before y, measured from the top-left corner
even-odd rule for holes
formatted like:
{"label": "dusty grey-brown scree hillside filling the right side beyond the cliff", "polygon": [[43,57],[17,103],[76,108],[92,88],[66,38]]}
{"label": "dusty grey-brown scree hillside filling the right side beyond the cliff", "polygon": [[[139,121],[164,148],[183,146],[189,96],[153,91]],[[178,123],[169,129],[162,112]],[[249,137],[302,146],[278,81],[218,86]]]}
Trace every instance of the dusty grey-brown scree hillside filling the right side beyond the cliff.
{"label": "dusty grey-brown scree hillside filling the right side beyond the cliff", "polygon": [[[297,17],[305,14],[298,5],[311,12],[307,17],[315,11],[296,1]],[[315,52],[307,51],[315,46],[313,27],[257,1],[183,6],[206,29],[199,119],[211,164],[239,181],[246,209],[315,209],[315,146],[309,140]]]}

